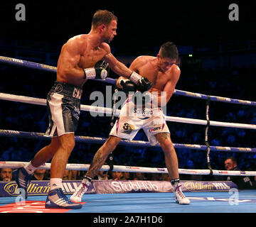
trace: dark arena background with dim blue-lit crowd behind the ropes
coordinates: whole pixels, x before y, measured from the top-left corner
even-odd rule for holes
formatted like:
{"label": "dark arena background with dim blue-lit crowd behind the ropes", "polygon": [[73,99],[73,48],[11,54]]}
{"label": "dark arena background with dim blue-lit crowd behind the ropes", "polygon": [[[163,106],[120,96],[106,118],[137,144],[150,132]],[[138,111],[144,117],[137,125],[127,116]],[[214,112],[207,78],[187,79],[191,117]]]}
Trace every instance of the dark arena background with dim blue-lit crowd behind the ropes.
{"label": "dark arena background with dim blue-lit crowd behind the ropes", "polygon": [[[26,6],[26,21],[16,21],[16,4]],[[229,21],[228,6],[239,6],[239,21]],[[131,57],[156,55],[166,41],[178,46],[181,78],[176,89],[201,94],[255,101],[255,9],[254,1],[1,1],[0,55],[57,65],[62,45],[74,35],[89,33],[97,9],[114,12],[118,18],[117,37],[110,47],[129,66]],[[188,57],[193,54],[193,57]],[[120,58],[121,59],[121,58]],[[0,92],[46,99],[55,74],[0,65]],[[115,78],[117,75],[112,74]],[[85,84],[82,104],[90,104],[95,90],[105,84]],[[0,101],[0,128],[45,132],[46,108]],[[206,118],[203,100],[174,95],[167,115]],[[210,119],[234,123],[256,123],[255,106],[211,102]],[[205,126],[168,122],[174,143],[204,145]],[[100,130],[99,130],[100,126]],[[82,112],[77,135],[107,138],[110,117]],[[48,141],[1,137],[1,160],[29,161]],[[146,140],[143,133],[138,140]],[[255,131],[211,127],[210,145],[255,148]],[[89,163],[100,145],[77,143],[69,162]],[[206,168],[206,153],[176,150],[180,168]],[[240,168],[255,170],[254,153],[211,152],[213,168],[223,169],[229,155],[238,158]],[[133,148],[119,145],[114,152],[117,165],[164,167],[160,148]]]}

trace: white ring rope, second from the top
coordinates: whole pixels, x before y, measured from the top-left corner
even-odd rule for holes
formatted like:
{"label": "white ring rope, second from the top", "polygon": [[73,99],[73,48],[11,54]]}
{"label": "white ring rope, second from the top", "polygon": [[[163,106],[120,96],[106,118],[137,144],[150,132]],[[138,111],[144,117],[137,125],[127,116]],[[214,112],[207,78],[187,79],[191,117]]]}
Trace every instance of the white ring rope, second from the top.
{"label": "white ring rope, second from the top", "polygon": [[[28,96],[19,96],[15,94],[5,94],[0,93],[0,99],[6,101],[18,101],[26,104],[36,104],[41,106],[46,106],[46,99],[33,98]],[[90,111],[99,114],[109,114],[112,116],[112,109],[100,106],[87,106],[81,105],[81,111]],[[116,116],[119,116],[120,110],[116,110]],[[192,123],[198,125],[207,125],[206,120],[195,119],[195,118],[181,118],[176,116],[165,116],[166,121],[178,122],[178,123]],[[210,121],[210,126],[221,126],[221,127],[230,127],[230,128],[246,128],[246,129],[256,129],[256,125],[245,124],[245,123],[229,123],[221,121]]]}

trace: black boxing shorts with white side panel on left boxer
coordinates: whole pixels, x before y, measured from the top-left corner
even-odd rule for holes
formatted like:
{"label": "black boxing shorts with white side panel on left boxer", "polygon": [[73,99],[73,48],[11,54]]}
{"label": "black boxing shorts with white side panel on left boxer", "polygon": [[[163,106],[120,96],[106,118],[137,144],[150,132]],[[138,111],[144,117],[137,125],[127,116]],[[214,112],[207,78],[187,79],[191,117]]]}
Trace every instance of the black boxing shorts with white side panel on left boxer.
{"label": "black boxing shorts with white side panel on left boxer", "polygon": [[60,136],[75,133],[80,117],[82,87],[63,82],[55,82],[48,92],[47,111],[48,136]]}

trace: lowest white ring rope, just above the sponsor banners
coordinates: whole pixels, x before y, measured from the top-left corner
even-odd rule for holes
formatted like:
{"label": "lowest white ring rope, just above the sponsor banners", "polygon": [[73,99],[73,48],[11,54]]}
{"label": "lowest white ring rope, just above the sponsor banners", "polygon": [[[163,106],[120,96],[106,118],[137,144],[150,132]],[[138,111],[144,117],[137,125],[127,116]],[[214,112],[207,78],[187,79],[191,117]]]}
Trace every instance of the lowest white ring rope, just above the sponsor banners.
{"label": "lowest white ring rope, just above the sponsor banners", "polygon": [[[16,169],[19,167],[25,167],[28,162],[0,162],[0,168],[11,168]],[[67,164],[66,170],[89,170],[89,164]],[[38,169],[50,170],[50,163],[45,163],[38,167]],[[109,165],[102,165],[99,171],[109,171]],[[167,168],[159,167],[134,167],[134,166],[122,166],[114,165],[114,172],[147,172],[147,173],[168,173]],[[256,176],[256,171],[229,171],[229,170],[212,170],[212,175],[223,175],[223,176]],[[209,175],[210,170],[187,170],[178,169],[179,174],[184,175]]]}

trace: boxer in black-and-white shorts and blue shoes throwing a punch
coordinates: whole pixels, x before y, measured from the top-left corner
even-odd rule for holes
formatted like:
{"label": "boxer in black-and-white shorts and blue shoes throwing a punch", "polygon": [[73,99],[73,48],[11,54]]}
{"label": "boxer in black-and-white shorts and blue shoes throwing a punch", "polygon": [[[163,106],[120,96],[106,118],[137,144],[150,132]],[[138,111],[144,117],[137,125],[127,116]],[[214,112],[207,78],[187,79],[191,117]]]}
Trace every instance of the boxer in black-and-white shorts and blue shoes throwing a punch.
{"label": "boxer in black-and-white shorts and blue shoes throwing a punch", "polygon": [[[80,21],[83,24],[83,21]],[[16,171],[14,179],[27,196],[27,187],[33,172],[45,162],[50,164],[50,191],[46,208],[80,209],[81,204],[71,202],[62,191],[62,179],[68,157],[75,146],[75,129],[80,115],[82,86],[87,79],[105,79],[110,69],[129,78],[141,92],[150,88],[148,79],[129,70],[111,53],[110,41],[117,35],[117,17],[106,10],[96,11],[91,31],[76,35],[63,45],[57,65],[57,79],[48,94],[49,128],[46,135],[53,136],[51,143],[36,153],[31,162]],[[96,63],[103,62],[99,65]]]}

